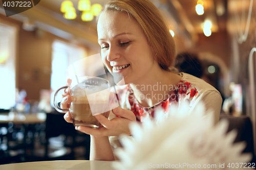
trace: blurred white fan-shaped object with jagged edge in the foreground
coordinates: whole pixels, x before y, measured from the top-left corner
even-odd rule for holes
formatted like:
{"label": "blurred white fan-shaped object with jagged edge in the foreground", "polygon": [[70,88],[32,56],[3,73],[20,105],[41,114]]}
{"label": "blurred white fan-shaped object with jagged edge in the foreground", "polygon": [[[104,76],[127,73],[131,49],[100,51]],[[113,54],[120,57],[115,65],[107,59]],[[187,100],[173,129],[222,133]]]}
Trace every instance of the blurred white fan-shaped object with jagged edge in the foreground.
{"label": "blurred white fan-shaped object with jagged edge in the foreground", "polygon": [[[115,150],[120,162],[114,162],[113,166],[124,170],[192,169],[193,166],[193,169],[226,169],[229,163],[249,162],[250,154],[241,155],[246,143],[233,144],[237,133],[233,130],[226,134],[227,128],[227,120],[214,126],[213,113],[206,112],[202,104],[193,110],[186,104],[179,109],[172,106],[166,114],[158,111],[155,121],[147,119],[143,127],[136,123],[130,125],[134,140],[122,138],[124,148]],[[220,167],[223,163],[225,168]],[[203,168],[208,164],[213,166]]]}

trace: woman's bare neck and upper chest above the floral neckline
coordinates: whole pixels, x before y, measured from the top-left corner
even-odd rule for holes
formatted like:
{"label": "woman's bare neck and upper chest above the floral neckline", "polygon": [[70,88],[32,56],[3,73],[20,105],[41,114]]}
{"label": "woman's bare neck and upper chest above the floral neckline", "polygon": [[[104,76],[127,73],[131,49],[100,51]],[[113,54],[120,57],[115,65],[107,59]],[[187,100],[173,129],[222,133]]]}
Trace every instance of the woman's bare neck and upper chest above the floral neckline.
{"label": "woman's bare neck and upper chest above the floral neckline", "polygon": [[173,72],[159,69],[148,73],[143,80],[131,83],[134,96],[143,107],[153,107],[164,100],[171,91],[175,90],[181,79],[181,76]]}

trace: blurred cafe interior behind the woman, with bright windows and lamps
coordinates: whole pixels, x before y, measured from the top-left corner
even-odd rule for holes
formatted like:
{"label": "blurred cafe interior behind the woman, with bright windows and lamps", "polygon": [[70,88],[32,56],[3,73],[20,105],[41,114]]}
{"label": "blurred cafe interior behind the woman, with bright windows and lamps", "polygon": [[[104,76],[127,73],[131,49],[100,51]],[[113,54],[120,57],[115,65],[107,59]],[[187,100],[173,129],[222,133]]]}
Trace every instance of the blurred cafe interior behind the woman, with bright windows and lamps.
{"label": "blurred cafe interior behind the woman, with bright windows and lamps", "polygon": [[[90,0],[91,13],[61,12],[64,0],[41,0],[7,17],[0,2],[0,164],[89,160],[90,135],[76,131],[53,108],[66,85],[66,68],[100,53],[96,16],[107,0]],[[151,0],[163,14],[177,46],[177,69],[220,91],[220,118],[234,142],[256,145],[256,1]],[[97,14],[96,14],[97,15]],[[93,63],[92,63],[93,64]]]}

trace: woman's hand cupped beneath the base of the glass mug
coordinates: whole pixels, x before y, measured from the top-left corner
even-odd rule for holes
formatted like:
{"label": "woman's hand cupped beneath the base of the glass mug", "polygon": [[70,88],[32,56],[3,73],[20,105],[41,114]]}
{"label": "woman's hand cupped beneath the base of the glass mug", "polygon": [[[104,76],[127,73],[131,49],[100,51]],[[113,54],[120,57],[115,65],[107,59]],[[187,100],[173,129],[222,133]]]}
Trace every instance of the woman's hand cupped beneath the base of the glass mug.
{"label": "woman's hand cupped beneath the base of the glass mug", "polygon": [[102,136],[119,136],[120,134],[131,135],[129,130],[129,124],[131,122],[136,122],[136,116],[130,110],[125,110],[120,107],[112,110],[113,113],[119,117],[109,120],[101,114],[95,115],[95,118],[102,125],[99,129],[93,129],[84,126],[76,127],[76,130],[83,133],[93,135],[96,137]]}

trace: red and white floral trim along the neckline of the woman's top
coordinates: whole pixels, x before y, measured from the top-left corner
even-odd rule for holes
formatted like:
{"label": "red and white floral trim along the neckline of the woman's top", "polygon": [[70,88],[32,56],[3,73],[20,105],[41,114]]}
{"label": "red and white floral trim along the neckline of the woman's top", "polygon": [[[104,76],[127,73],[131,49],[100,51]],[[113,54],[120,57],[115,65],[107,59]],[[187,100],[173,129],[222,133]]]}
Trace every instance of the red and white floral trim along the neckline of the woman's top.
{"label": "red and white floral trim along the neckline of the woman's top", "polygon": [[140,106],[130,85],[127,85],[125,89],[130,92],[129,103],[131,105],[131,111],[135,114],[136,119],[139,122],[143,122],[144,117],[154,118],[155,110],[158,108],[163,109],[164,113],[168,114],[170,105],[179,105],[181,101],[188,101],[190,103],[198,94],[197,89],[194,88],[191,83],[181,80],[177,85],[177,89],[170,92],[169,96],[167,96],[163,101],[153,107],[146,108]]}

